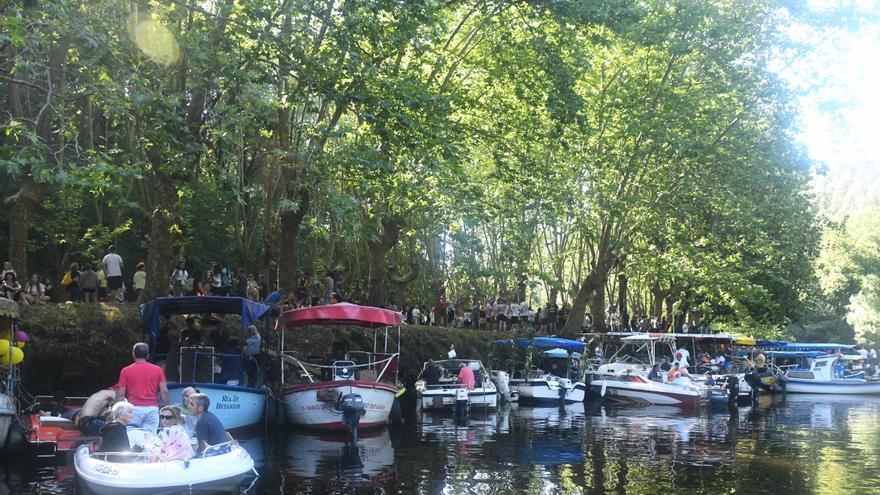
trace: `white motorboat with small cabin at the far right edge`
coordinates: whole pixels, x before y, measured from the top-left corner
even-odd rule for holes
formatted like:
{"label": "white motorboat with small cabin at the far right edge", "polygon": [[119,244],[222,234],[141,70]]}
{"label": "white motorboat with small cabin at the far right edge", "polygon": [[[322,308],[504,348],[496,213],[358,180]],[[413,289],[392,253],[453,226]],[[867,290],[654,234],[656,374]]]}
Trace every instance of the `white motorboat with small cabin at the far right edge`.
{"label": "white motorboat with small cabin at the far right edge", "polygon": [[859,356],[826,355],[812,360],[810,369],[790,369],[782,380],[785,391],[800,394],[873,395],[880,394],[880,381],[867,380],[864,373],[846,374],[843,362]]}

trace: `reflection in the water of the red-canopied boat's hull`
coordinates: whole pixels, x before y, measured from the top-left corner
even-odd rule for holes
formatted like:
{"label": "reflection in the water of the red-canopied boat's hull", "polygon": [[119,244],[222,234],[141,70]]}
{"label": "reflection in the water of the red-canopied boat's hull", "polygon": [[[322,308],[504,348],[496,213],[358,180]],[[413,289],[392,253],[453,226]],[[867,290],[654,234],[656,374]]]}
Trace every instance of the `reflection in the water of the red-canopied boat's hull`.
{"label": "reflection in the water of the red-canopied boat's hull", "polygon": [[293,432],[286,438],[288,471],[303,478],[342,473],[345,481],[371,482],[393,474],[394,447],[387,429],[358,435],[352,451],[344,433]]}

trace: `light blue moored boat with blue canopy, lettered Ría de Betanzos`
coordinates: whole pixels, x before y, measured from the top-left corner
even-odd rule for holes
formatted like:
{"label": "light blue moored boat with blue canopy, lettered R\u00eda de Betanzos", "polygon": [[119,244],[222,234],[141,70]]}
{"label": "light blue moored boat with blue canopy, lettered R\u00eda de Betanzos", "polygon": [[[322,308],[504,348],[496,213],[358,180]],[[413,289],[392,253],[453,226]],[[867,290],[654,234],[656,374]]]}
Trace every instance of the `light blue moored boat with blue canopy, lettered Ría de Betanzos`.
{"label": "light blue moored boat with blue canopy, lettered R\u00eda de Betanzos", "polygon": [[[163,315],[235,314],[241,317],[242,337],[247,327],[269,312],[269,307],[242,297],[160,297],[141,306],[144,327],[149,331],[150,349],[155,352]],[[245,385],[244,373],[223,377],[215,368],[223,359],[241,360],[237,354],[228,354],[212,347],[187,347],[167,356],[165,373],[168,377],[168,395],[171,402],[180,403],[186,387],[194,387],[211,399],[211,412],[216,414],[227,430],[245,428],[260,423],[269,397],[262,383]]]}

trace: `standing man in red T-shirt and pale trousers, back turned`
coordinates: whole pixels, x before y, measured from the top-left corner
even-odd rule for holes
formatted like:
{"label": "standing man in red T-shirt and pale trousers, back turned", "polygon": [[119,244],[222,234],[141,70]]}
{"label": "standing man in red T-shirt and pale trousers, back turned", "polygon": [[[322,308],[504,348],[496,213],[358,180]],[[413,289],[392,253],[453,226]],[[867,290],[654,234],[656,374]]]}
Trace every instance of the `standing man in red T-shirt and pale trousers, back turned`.
{"label": "standing man in red T-shirt and pale trousers, back turned", "polygon": [[116,400],[127,399],[134,406],[130,428],[144,428],[153,433],[159,427],[159,401],[169,404],[168,386],[162,368],[147,362],[150,346],[138,342],[131,350],[134,363],[119,372]]}

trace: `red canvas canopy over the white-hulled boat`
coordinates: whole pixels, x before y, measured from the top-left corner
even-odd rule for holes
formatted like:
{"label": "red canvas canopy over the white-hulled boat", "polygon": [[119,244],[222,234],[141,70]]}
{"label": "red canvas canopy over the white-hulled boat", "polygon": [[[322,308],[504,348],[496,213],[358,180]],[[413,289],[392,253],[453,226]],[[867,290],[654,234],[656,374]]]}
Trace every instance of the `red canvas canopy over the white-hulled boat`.
{"label": "red canvas canopy over the white-hulled boat", "polygon": [[367,328],[395,327],[403,322],[403,315],[388,309],[357,304],[339,303],[312,306],[285,311],[278,318],[278,328],[309,325],[352,325]]}

